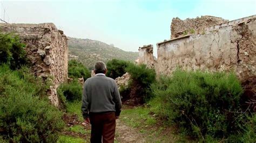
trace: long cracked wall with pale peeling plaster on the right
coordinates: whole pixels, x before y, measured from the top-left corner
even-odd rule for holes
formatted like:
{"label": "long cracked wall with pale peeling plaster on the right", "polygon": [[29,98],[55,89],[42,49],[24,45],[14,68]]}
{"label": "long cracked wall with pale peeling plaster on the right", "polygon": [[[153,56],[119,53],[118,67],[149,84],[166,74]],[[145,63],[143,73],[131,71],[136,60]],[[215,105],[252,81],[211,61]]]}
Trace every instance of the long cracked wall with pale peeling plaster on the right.
{"label": "long cracked wall with pale peeling plaster on the right", "polygon": [[235,71],[256,76],[256,16],[201,28],[199,33],[157,44],[157,74],[188,70]]}

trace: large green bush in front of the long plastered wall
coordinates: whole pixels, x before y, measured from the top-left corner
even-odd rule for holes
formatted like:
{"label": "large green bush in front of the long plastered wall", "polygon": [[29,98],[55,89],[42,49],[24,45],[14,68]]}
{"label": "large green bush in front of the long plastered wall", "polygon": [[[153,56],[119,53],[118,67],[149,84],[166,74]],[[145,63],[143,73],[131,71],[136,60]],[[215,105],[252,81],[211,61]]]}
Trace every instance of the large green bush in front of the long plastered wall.
{"label": "large green bush in front of the long plastered wall", "polygon": [[248,131],[240,108],[242,87],[234,74],[176,70],[152,86],[151,108],[167,124],[200,139],[228,138]]}

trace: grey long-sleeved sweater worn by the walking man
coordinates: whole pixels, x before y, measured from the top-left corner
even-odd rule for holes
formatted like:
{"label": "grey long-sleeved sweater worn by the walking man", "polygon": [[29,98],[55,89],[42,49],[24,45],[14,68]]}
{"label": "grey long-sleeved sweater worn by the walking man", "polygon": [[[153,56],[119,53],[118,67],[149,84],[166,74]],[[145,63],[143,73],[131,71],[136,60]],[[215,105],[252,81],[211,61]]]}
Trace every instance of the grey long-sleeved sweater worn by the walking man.
{"label": "grey long-sleeved sweater worn by the walking man", "polygon": [[89,117],[89,112],[116,112],[120,115],[122,103],[116,82],[104,74],[87,78],[84,83],[82,97],[82,113],[84,119]]}

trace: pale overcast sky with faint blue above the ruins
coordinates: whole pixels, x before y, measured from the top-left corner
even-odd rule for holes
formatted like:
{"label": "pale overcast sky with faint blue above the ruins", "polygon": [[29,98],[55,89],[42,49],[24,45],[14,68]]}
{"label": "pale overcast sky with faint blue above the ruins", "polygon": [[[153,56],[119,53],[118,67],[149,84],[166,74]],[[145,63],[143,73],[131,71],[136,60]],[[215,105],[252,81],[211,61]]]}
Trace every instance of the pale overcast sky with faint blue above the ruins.
{"label": "pale overcast sky with faint blue above the ruins", "polygon": [[1,18],[9,23],[54,23],[69,37],[99,40],[125,51],[153,44],[154,55],[156,43],[170,39],[174,17],[234,20],[255,14],[256,0],[1,1]]}

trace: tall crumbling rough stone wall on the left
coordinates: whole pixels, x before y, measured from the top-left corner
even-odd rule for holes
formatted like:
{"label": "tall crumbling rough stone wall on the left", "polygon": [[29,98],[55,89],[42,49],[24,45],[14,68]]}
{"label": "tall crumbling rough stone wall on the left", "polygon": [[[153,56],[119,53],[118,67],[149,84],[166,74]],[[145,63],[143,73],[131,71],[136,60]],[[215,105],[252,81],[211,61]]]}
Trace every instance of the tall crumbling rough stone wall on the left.
{"label": "tall crumbling rough stone wall on the left", "polygon": [[32,63],[32,72],[44,80],[52,81],[49,98],[52,104],[58,106],[56,89],[68,79],[68,39],[63,31],[57,30],[52,23],[0,24],[0,27],[3,32],[18,34],[26,44],[25,50]]}

